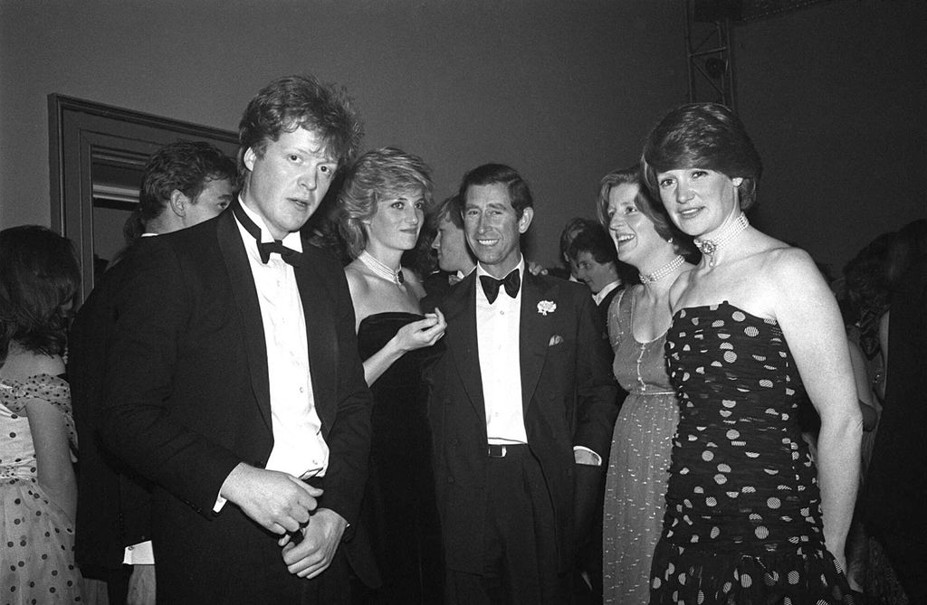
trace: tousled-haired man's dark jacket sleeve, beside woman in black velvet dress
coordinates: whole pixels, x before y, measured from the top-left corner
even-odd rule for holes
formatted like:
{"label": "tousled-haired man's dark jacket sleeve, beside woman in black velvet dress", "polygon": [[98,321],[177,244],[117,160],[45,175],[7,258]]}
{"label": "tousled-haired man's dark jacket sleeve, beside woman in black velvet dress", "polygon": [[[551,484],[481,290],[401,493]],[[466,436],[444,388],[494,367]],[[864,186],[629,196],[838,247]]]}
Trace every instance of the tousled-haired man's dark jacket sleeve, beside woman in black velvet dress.
{"label": "tousled-haired man's dark jacket sleeve, beside woman in black velvet dress", "polygon": [[[328,468],[325,492],[319,506],[336,511],[348,523],[358,521],[370,457],[370,414],[373,396],[367,388],[358,354],[351,302],[344,271],[336,263],[326,268],[325,278],[334,296],[337,314],[337,407],[331,429],[325,433]],[[327,419],[323,419],[326,422]],[[349,537],[349,536],[347,536]]]}

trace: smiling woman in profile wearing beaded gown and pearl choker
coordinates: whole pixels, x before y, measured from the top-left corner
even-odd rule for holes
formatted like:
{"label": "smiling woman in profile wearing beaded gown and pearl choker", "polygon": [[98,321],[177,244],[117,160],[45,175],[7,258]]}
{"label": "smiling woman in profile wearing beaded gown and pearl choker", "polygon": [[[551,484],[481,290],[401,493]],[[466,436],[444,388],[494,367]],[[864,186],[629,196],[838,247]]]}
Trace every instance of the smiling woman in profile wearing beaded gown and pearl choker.
{"label": "smiling woman in profile wearing beaded gown and pearl choker", "polygon": [[603,505],[603,602],[619,605],[650,599],[651,559],[663,527],[669,452],[679,421],[663,358],[669,286],[692,269],[680,254],[686,236],[646,198],[638,166],[602,180],[600,220],[618,258],[635,267],[642,282],[619,293],[608,309],[615,377],[628,391],[612,437]]}

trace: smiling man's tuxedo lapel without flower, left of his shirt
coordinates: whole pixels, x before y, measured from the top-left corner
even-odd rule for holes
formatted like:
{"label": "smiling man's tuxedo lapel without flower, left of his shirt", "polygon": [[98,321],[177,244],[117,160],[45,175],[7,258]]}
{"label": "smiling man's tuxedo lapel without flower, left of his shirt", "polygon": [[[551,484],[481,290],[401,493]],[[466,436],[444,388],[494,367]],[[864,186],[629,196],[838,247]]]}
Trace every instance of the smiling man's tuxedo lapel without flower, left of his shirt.
{"label": "smiling man's tuxedo lapel without flower, left of his shirt", "polygon": [[451,352],[451,367],[455,368],[464,383],[467,398],[476,413],[486,418],[483,400],[483,376],[479,372],[479,347],[476,340],[476,271],[464,278],[444,298],[442,303],[448,322],[444,338]]}

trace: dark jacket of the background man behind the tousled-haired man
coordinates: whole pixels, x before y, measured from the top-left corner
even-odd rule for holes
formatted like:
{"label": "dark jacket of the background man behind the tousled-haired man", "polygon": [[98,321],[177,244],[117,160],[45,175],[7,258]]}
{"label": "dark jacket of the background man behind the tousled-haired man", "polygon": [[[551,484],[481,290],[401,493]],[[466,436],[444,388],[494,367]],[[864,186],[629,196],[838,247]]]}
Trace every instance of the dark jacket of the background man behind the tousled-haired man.
{"label": "dark jacket of the background man behind the tousled-haired man", "polygon": [[[125,254],[144,255],[151,241],[140,238]],[[149,485],[103,447],[97,431],[116,326],[114,296],[130,277],[128,266],[119,262],[104,273],[78,311],[68,340],[68,382],[80,443],[75,556],[85,576],[101,579],[121,570],[126,546],[151,539]]]}

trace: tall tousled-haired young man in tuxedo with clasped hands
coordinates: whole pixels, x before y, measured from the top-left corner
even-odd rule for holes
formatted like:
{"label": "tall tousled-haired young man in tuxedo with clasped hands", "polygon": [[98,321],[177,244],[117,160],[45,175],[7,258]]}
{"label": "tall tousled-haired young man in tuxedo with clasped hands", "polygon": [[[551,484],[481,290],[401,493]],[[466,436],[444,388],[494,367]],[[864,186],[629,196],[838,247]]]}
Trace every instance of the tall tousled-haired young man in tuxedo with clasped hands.
{"label": "tall tousled-haired young man in tuxedo with clasped hands", "polygon": [[346,558],[369,573],[350,538],[371,397],[344,273],[299,229],[362,129],[293,76],[239,134],[232,207],[122,260],[100,435],[154,485],[159,602],[342,602]]}

